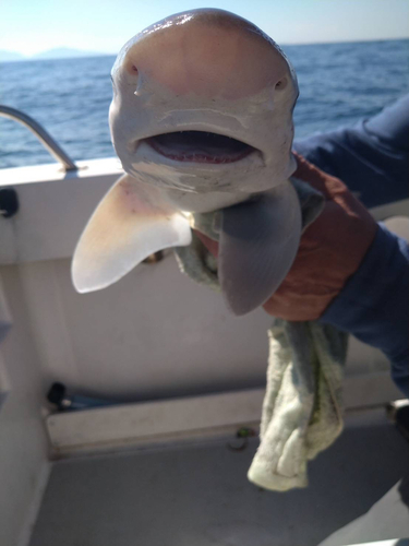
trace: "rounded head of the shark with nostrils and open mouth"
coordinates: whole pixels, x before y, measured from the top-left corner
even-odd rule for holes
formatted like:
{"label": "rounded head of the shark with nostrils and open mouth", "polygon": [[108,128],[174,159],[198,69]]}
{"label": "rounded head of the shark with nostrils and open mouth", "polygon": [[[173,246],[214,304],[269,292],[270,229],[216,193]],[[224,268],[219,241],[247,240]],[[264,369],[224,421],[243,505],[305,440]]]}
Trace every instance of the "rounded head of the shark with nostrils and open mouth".
{"label": "rounded head of the shark with nostrils and open mouth", "polygon": [[294,72],[237,15],[193,10],[149,26],[122,48],[112,82],[109,122],[123,169],[181,207],[243,201],[296,168]]}

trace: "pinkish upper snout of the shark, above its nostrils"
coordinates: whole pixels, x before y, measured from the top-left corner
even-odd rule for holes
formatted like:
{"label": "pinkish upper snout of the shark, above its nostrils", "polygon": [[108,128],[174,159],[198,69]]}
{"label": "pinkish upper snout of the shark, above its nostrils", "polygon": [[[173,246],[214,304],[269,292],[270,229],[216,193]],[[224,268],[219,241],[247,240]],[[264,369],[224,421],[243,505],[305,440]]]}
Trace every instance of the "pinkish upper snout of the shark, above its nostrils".
{"label": "pinkish upper snout of the shark, above its nostrils", "polygon": [[137,94],[159,84],[176,96],[237,99],[288,84],[288,64],[272,40],[246,21],[219,10],[175,15],[129,47],[123,78]]}

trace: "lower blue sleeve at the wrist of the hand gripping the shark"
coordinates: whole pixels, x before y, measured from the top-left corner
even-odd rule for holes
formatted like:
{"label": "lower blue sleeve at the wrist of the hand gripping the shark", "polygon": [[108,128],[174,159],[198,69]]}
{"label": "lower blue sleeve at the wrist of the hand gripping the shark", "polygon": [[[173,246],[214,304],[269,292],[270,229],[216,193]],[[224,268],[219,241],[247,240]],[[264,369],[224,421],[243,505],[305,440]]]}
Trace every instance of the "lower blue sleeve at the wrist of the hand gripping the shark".
{"label": "lower blue sleeve at the wrist of the hand gripping the shark", "polygon": [[360,269],[320,321],[383,351],[394,381],[409,397],[409,247],[404,239],[380,224]]}

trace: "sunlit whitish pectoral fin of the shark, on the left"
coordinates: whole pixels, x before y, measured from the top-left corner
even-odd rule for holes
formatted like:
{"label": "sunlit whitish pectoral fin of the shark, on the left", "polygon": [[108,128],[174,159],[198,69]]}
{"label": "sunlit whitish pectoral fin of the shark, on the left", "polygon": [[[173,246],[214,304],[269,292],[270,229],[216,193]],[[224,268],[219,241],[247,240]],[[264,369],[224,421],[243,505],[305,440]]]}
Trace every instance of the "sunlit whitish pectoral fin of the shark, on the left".
{"label": "sunlit whitish pectoral fin of the shark, on the left", "polygon": [[189,221],[160,190],[124,175],[101,200],[76,246],[72,280],[80,293],[119,281],[149,254],[192,240]]}

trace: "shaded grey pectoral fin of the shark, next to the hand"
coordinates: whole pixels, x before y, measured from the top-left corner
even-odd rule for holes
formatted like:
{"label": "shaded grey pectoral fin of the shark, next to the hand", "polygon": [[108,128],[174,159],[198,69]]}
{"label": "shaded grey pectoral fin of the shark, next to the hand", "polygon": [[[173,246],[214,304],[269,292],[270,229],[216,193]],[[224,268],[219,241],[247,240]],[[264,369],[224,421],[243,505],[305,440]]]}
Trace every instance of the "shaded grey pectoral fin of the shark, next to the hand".
{"label": "shaded grey pectoral fin of the shark, next to the hand", "polygon": [[222,211],[218,271],[227,306],[245,314],[281,284],[296,258],[301,210],[290,182]]}

